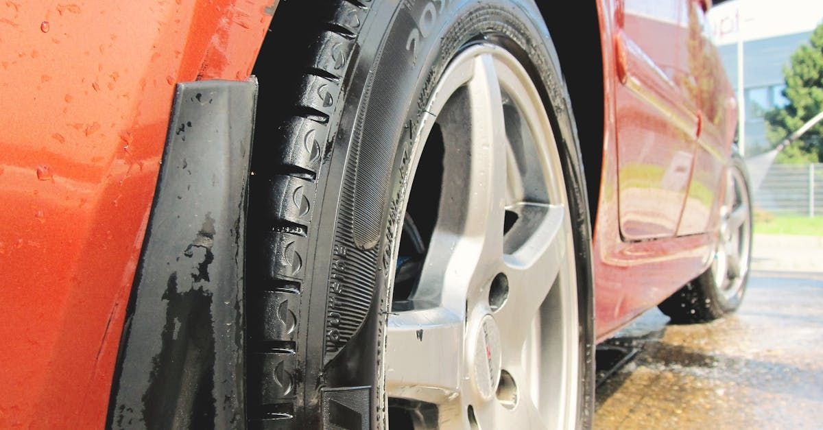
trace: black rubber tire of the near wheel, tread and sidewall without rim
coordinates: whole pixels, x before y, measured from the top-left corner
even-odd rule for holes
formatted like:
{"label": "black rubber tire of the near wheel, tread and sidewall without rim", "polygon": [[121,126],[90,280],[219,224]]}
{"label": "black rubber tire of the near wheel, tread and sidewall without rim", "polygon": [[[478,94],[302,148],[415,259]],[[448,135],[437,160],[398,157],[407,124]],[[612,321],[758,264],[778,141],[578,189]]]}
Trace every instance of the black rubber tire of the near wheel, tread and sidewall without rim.
{"label": "black rubber tire of the near wheel, tread and sidewall without rim", "polygon": [[[281,2],[260,81],[247,255],[252,428],[385,428],[381,354],[411,136],[476,40],[527,65],[551,116],[574,224],[579,427],[593,414],[588,202],[568,91],[532,0]],[[362,421],[359,423],[358,419]]]}

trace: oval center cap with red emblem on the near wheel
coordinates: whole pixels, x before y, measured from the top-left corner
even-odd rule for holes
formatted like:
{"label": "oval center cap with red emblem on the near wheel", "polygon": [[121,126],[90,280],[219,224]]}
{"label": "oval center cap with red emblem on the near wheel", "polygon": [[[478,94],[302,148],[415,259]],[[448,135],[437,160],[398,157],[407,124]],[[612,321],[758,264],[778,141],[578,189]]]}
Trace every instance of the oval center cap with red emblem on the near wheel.
{"label": "oval center cap with red emblem on the near wheel", "polygon": [[491,315],[480,320],[474,343],[474,383],[484,400],[491,400],[500,382],[500,330]]}

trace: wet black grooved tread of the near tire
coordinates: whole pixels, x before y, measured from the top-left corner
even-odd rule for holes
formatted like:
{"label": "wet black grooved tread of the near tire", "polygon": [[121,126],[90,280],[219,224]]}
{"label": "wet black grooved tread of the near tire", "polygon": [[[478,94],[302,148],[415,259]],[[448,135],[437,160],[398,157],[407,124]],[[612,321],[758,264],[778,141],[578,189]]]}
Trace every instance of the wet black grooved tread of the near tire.
{"label": "wet black grooved tread of the near tire", "polygon": [[[300,3],[300,4],[297,4]],[[304,387],[300,381],[300,309],[305,293],[309,227],[317,199],[321,161],[332,140],[329,119],[371,0],[283,2],[300,40],[308,41],[299,71],[277,82],[295,88],[277,112],[279,124],[263,147],[265,169],[251,178],[249,217],[267,232],[252,238],[258,255],[249,262],[247,301],[247,381],[251,428],[295,428]],[[282,24],[282,22],[281,22]],[[295,43],[290,41],[289,43]],[[290,66],[291,66],[290,65]],[[278,118],[279,116],[279,118]],[[255,149],[257,152],[258,149]],[[259,161],[258,161],[259,162]]]}

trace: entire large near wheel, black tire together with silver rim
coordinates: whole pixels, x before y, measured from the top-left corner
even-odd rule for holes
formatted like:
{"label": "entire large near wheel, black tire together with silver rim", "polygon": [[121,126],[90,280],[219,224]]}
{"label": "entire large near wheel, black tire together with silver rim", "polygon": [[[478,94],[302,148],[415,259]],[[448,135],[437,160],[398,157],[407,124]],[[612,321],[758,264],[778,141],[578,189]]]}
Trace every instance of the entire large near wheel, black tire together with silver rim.
{"label": "entire large near wheel, black tire together with silver rim", "polygon": [[539,16],[281,3],[273,29],[314,48],[277,83],[291,98],[257,71],[275,114],[249,198],[253,427],[590,425],[588,204]]}

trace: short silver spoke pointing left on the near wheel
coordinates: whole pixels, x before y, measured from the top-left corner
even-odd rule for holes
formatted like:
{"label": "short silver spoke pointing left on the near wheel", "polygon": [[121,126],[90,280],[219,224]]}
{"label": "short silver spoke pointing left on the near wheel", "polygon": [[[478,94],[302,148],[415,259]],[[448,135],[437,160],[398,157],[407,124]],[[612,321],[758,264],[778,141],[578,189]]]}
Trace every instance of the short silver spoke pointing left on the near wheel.
{"label": "short silver spoke pointing left on the near wheel", "polygon": [[390,397],[441,403],[460,388],[463,319],[442,307],[389,315],[386,359]]}

